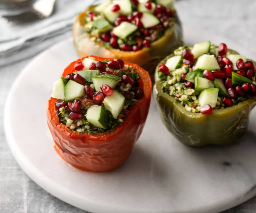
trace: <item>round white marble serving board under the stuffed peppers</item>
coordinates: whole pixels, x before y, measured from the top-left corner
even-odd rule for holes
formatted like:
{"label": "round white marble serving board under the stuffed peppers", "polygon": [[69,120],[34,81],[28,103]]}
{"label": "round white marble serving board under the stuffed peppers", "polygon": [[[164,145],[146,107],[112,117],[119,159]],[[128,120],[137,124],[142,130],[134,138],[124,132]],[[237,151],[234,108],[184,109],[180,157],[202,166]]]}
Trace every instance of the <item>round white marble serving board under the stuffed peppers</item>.
{"label": "round white marble serving board under the stuffed peppers", "polygon": [[[206,32],[186,29],[185,35],[188,44],[224,41],[253,57]],[[214,213],[256,195],[256,109],[242,143],[191,148],[166,130],[152,100],[143,134],[123,166],[88,173],[65,163],[53,149],[45,111],[53,82],[76,58],[71,39],[41,53],[17,77],[6,103],[10,149],[39,186],[94,213]]]}

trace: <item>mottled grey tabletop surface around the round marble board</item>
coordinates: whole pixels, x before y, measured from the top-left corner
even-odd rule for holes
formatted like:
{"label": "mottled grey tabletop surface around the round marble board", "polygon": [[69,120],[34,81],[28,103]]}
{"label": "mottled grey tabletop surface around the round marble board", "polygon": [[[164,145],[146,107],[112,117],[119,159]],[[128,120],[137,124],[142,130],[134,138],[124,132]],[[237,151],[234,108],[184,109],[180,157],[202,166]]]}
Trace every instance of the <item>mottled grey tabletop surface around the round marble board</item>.
{"label": "mottled grey tabletop surface around the round marble board", "polygon": [[[254,48],[256,47],[255,0],[177,0],[176,8],[184,25],[229,38],[231,41],[255,53],[256,58],[256,50]],[[42,45],[45,43],[45,48],[47,48],[49,45],[56,43],[56,41],[65,40],[70,36],[71,31],[69,30],[53,38],[52,42],[42,41]],[[26,51],[23,51],[24,53]],[[8,62],[8,64],[0,67],[0,119],[2,121],[4,105],[10,86],[20,70],[30,60],[31,58],[27,58],[16,63]],[[17,103],[17,109],[19,104],[27,104],[29,107],[29,103]],[[25,117],[26,115],[22,116]],[[77,209],[53,197],[36,185],[21,170],[6,143],[3,122],[0,123],[0,192],[1,213],[86,213],[86,211]],[[231,212],[256,212],[256,197],[223,213]]]}

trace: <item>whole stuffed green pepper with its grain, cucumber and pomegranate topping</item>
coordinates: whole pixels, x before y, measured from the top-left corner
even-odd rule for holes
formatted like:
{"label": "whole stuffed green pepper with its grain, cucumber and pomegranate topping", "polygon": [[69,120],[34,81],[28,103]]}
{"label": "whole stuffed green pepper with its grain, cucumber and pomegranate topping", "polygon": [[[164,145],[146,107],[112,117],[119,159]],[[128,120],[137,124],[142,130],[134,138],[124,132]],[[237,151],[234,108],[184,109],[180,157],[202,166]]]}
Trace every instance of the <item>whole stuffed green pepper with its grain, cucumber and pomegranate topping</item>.
{"label": "whole stuffed green pepper with its grain, cucumber and pomegranate topping", "polygon": [[157,66],[153,89],[167,129],[190,146],[241,141],[256,105],[255,64],[224,43],[175,50]]}

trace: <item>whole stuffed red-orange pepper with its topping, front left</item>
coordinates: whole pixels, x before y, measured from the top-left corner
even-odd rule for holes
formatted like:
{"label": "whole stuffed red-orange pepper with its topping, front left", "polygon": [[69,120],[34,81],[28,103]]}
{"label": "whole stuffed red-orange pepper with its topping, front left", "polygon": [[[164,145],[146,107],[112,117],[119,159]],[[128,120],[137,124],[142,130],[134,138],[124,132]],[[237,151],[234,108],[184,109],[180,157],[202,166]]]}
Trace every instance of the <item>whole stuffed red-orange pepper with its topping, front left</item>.
{"label": "whole stuffed red-orange pepper with its topping, front left", "polygon": [[95,56],[72,62],[47,106],[55,150],[85,171],[120,166],[142,133],[151,90],[148,72],[136,64]]}

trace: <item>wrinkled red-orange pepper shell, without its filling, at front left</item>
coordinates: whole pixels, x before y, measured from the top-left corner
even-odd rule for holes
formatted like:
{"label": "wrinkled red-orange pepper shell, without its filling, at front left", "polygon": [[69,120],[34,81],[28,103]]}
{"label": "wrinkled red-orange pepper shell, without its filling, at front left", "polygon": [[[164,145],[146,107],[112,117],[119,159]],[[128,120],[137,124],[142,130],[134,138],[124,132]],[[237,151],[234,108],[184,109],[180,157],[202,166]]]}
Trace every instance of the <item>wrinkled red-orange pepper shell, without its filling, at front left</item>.
{"label": "wrinkled red-orange pepper shell, without its filling, at front left", "polygon": [[[104,60],[95,56],[95,60]],[[79,59],[77,61],[80,61]],[[109,59],[113,60],[113,59]],[[74,71],[74,61],[64,70],[62,76]],[[59,122],[55,113],[54,103],[57,99],[50,98],[47,106],[47,124],[55,142],[55,150],[66,162],[72,166],[90,172],[112,170],[124,163],[133,149],[134,143],[140,137],[149,112],[152,83],[147,71],[138,65],[127,63],[137,69],[141,76],[140,87],[144,90],[144,97],[139,99],[125,116],[123,123],[116,126],[115,132],[99,134],[78,134],[69,130]]]}

